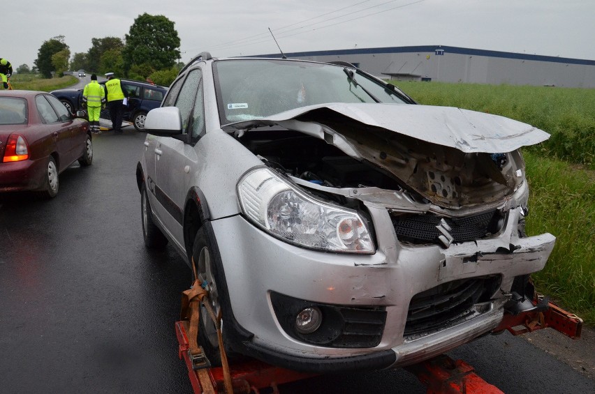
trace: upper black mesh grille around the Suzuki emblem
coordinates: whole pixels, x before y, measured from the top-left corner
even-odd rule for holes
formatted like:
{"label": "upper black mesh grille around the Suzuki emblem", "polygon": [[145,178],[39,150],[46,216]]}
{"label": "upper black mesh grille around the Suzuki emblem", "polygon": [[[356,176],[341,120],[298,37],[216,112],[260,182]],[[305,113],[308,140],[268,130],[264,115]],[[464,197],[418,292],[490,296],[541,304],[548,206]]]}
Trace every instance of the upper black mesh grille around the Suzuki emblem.
{"label": "upper black mesh grille around the Suzuki emblem", "polygon": [[466,216],[464,218],[443,218],[432,213],[424,215],[397,215],[392,216],[392,226],[395,227],[399,241],[407,241],[414,244],[439,242],[438,237],[442,234],[436,228],[444,219],[450,226],[450,235],[455,243],[473,241],[484,238],[487,234],[493,234],[494,218],[497,218],[497,211],[480,213],[479,215]]}

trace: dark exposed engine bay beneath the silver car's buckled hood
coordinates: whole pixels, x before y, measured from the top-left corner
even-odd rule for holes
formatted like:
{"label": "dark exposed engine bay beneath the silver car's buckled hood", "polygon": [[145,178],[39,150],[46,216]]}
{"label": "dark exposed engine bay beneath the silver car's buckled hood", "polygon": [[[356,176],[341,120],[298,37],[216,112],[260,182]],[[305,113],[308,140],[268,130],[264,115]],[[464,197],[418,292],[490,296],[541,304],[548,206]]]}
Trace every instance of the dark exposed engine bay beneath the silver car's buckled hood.
{"label": "dark exposed engine bay beneath the silver car's buckled hood", "polygon": [[[311,183],[406,190],[418,202],[447,209],[501,202],[524,179],[517,151],[464,153],[353,121],[317,124],[323,139],[261,126],[244,133],[240,142],[270,167]],[[359,157],[337,145],[348,145]]]}

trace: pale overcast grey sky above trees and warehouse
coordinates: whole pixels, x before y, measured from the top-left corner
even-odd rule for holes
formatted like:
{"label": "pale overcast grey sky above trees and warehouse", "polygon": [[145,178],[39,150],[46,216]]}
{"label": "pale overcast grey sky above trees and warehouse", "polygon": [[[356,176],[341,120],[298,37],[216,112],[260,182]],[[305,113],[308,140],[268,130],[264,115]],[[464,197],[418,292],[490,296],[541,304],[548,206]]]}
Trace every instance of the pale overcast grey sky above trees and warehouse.
{"label": "pale overcast grey sky above trees and warehouse", "polygon": [[[135,18],[174,22],[181,60],[447,45],[595,60],[595,0],[22,0],[4,7],[0,57],[34,66],[44,41],[75,52],[91,38],[124,40]],[[6,17],[6,15],[8,17]],[[270,29],[270,31],[269,31]]]}

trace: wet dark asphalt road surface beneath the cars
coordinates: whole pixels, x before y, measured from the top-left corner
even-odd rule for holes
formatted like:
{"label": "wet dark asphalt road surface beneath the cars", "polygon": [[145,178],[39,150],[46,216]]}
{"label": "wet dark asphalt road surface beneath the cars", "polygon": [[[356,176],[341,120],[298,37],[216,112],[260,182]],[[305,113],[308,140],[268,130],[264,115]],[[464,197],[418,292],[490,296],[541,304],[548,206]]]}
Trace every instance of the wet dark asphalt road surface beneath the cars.
{"label": "wet dark asphalt road surface beneath the cars", "polygon": [[[174,324],[190,270],[142,242],[144,134],[94,136],[59,195],[0,198],[0,393],[191,393]],[[561,334],[559,343],[570,341]],[[505,393],[595,393],[595,381],[508,333],[449,354]],[[281,393],[425,393],[404,370],[335,374]],[[261,391],[263,392],[263,391]]]}

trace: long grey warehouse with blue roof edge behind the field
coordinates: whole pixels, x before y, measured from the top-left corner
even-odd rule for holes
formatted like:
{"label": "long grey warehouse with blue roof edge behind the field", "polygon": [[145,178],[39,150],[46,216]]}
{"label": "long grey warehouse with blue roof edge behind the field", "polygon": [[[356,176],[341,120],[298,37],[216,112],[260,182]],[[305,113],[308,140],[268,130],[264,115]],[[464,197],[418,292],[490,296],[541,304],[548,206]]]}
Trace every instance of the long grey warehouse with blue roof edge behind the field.
{"label": "long grey warehouse with blue roof edge behind the field", "polygon": [[[278,57],[279,54],[260,56]],[[383,79],[595,87],[595,61],[557,56],[443,45],[295,52],[286,56],[312,61],[346,61]]]}

